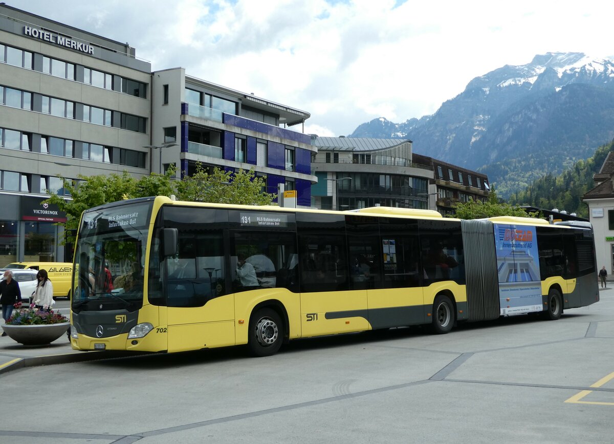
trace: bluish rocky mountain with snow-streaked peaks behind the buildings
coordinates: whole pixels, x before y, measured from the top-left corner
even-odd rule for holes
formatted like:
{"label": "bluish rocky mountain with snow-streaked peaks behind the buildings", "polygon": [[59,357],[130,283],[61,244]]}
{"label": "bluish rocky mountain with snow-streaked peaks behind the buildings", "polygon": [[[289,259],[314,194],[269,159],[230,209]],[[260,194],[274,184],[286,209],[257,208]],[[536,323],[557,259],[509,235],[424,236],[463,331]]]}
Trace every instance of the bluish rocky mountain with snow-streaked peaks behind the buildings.
{"label": "bluish rocky mountain with snow-streaked peaks behind the buildings", "polygon": [[474,78],[433,115],[361,124],[349,137],[406,138],[414,151],[489,175],[500,196],[614,138],[614,60],[546,53]]}

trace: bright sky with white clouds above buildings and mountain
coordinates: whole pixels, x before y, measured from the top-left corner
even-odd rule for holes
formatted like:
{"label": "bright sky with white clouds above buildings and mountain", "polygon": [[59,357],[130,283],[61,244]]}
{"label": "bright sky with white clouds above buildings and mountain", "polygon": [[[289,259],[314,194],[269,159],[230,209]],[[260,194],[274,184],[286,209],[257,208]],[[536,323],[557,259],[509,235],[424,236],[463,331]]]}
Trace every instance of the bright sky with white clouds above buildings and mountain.
{"label": "bright sky with white clouds above buildings and mountain", "polygon": [[152,68],[311,113],[305,132],[434,113],[474,77],[545,52],[614,55],[599,0],[4,0],[136,48]]}

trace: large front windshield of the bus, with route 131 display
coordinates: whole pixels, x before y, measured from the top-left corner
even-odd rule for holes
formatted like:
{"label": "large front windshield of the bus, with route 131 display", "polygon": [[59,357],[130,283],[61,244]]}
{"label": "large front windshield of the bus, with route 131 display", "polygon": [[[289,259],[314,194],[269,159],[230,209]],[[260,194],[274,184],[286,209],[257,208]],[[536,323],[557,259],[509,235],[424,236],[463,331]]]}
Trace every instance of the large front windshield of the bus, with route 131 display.
{"label": "large front windshield of the bus, with route 131 display", "polygon": [[84,213],[75,248],[73,310],[142,307],[151,206],[120,204]]}

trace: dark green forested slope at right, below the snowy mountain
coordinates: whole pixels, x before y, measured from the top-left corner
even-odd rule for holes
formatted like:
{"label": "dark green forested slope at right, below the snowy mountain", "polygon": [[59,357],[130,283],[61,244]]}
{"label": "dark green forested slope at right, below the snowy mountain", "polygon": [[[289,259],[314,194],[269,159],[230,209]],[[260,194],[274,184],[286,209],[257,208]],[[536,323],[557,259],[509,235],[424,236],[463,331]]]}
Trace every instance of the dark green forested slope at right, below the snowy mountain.
{"label": "dark green forested slope at right, below the snowy mountain", "polygon": [[599,172],[606,156],[612,150],[614,141],[597,148],[592,157],[578,161],[561,175],[548,174],[535,180],[523,191],[511,194],[509,203],[532,205],[546,210],[558,208],[588,218],[588,209],[582,202],[582,196],[595,186],[593,175]]}

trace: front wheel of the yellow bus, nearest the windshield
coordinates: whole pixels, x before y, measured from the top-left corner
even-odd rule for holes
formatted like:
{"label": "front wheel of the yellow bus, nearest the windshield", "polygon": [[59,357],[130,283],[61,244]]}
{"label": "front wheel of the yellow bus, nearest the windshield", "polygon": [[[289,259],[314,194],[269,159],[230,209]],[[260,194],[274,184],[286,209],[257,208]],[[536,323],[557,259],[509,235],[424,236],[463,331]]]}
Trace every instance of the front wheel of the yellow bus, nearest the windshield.
{"label": "front wheel of the yellow bus, nearest the windshield", "polygon": [[249,320],[247,346],[254,356],[271,356],[284,340],[284,324],[271,308],[261,308]]}

